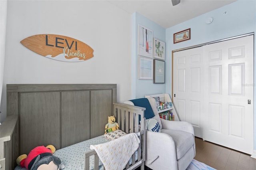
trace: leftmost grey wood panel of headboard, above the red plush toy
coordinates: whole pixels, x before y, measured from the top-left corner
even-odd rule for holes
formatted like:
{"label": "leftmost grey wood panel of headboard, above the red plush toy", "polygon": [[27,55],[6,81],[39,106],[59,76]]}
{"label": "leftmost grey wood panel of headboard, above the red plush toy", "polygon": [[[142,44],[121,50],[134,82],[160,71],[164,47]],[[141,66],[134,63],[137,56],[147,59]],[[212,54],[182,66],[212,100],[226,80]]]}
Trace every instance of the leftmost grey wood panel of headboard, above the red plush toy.
{"label": "leftmost grey wood panel of headboard, above the red plush toy", "polygon": [[21,93],[20,154],[48,144],[60,148],[60,93]]}

